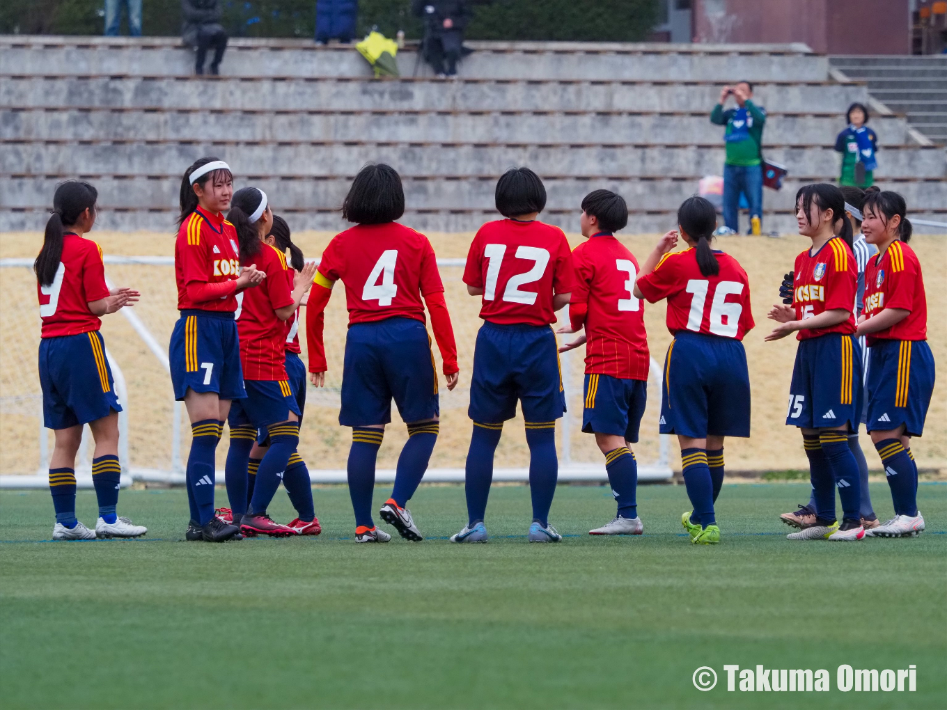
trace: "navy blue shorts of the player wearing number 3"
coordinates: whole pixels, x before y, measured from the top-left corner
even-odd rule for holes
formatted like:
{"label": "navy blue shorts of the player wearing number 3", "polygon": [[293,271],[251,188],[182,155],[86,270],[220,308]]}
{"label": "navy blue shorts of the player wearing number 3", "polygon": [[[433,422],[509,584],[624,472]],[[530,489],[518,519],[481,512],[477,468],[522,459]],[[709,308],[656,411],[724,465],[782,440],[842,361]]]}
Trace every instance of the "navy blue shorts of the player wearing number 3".
{"label": "navy blue shorts of the player wearing number 3", "polygon": [[636,444],[641,417],[648,404],[648,382],[621,380],[611,375],[585,375],[585,434],[624,436]]}

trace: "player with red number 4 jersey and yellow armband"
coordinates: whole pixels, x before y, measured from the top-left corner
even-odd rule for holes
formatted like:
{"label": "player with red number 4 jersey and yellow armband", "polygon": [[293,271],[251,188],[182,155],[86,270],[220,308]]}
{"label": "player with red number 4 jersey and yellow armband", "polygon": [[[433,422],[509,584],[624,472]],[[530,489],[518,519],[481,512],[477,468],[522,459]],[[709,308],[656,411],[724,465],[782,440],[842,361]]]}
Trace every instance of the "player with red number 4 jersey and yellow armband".
{"label": "player with red number 4 jersey and yellow armband", "polygon": [[348,493],[356,542],[391,540],[371,518],[375,462],[384,426],[391,421],[391,399],[407,424],[408,440],[398,459],[394,490],[379,515],[405,540],[422,540],[406,506],[438,439],[438,375],[425,327],[425,303],[447,388],[457,383],[454,329],[434,249],[424,235],[395,222],[402,214],[404,190],[395,169],[384,163],[361,169],[342,204],[342,216],[357,223],[336,235],[322,253],[306,307],[310,377],[320,387],[328,369],[323,312],[333,284],[340,279],[345,284],[349,325],[339,423],[352,428]]}

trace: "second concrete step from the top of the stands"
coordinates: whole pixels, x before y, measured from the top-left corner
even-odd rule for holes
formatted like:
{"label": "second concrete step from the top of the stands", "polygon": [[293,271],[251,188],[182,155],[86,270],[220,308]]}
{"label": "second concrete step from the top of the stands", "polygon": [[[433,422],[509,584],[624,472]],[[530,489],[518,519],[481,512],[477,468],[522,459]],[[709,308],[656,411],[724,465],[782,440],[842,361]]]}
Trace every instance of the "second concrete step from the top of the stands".
{"label": "second concrete step from the top of the stands", "polygon": [[[842,111],[866,101],[862,84],[760,82],[770,111]],[[701,81],[349,80],[0,75],[0,105],[158,110],[709,111],[720,84]]]}

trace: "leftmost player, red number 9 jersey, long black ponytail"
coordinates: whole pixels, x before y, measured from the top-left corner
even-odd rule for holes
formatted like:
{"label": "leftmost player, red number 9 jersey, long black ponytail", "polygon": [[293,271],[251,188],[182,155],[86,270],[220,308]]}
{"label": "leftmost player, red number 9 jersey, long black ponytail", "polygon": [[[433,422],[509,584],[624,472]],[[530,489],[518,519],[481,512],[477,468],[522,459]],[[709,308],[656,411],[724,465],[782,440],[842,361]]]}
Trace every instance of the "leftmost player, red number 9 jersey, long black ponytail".
{"label": "leftmost player, red number 9 jersey, long black ponytail", "polygon": [[[139,293],[105,283],[102,250],[83,238],[96,222],[98,191],[69,180],[56,188],[46,222],[43,249],[33,269],[43,322],[40,385],[43,418],[56,443],[49,461],[49,492],[56,511],[53,540],[136,538],[148,532],[116,515],[121,467],[118,463],[118,413],[121,404],[112,380],[99,316],[132,306]],[[96,440],[92,482],[98,498],[95,531],[76,519],[76,453],[82,428]]]}

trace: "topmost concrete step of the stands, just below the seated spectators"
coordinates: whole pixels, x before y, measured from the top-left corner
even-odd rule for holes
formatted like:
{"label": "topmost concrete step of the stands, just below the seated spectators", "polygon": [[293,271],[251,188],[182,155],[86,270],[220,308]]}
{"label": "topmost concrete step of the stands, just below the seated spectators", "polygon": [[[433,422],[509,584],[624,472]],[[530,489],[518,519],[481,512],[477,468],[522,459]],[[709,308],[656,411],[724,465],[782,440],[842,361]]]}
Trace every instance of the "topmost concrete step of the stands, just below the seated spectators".
{"label": "topmost concrete step of the stands, just below the seated spectators", "polygon": [[[828,60],[804,44],[614,44],[468,42],[474,54],[459,65],[478,79],[581,80],[824,80]],[[428,76],[414,45],[399,52],[404,77]],[[175,37],[0,38],[0,64],[24,74],[124,74],[187,77],[194,53]],[[369,78],[354,46],[315,46],[309,40],[232,39],[221,71],[230,76]]]}

